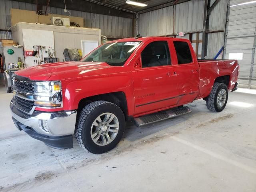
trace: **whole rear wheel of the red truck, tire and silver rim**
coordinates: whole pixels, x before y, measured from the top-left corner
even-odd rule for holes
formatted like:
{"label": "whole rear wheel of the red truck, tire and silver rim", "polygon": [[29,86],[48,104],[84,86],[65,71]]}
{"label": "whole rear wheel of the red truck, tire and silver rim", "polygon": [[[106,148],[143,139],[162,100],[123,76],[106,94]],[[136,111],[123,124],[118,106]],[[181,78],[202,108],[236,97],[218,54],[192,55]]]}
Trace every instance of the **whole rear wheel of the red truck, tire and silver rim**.
{"label": "whole rear wheel of the red truck, tire and silver rim", "polygon": [[214,83],[212,92],[206,100],[207,108],[212,112],[224,110],[228,101],[228,88],[224,83]]}

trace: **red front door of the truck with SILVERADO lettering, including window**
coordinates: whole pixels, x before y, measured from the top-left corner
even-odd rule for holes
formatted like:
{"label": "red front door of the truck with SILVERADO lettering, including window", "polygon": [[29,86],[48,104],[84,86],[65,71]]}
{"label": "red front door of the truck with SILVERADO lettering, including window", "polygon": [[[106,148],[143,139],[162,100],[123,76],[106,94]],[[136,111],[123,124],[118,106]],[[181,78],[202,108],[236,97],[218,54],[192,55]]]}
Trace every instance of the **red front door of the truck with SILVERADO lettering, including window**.
{"label": "red front door of the truck with SILVERADO lettering, including window", "polygon": [[166,108],[176,103],[177,98],[172,96],[177,92],[174,80],[176,76],[170,76],[169,43],[151,40],[137,54],[136,62],[132,66],[135,115]]}

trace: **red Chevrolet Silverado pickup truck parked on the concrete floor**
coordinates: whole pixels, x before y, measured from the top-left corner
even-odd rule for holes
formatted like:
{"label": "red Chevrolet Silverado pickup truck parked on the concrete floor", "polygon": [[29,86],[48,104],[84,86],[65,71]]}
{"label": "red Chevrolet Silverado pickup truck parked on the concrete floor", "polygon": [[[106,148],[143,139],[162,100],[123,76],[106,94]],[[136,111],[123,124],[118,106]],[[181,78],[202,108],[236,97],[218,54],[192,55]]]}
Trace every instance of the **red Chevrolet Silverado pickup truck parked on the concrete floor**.
{"label": "red Chevrolet Silverado pickup truck parked on the concrete floor", "polygon": [[190,112],[203,98],[222,111],[236,90],[236,60],[198,60],[189,40],[138,37],[108,42],[80,62],[19,70],[10,103],[14,124],[53,148],[113,149],[126,120],[137,126]]}

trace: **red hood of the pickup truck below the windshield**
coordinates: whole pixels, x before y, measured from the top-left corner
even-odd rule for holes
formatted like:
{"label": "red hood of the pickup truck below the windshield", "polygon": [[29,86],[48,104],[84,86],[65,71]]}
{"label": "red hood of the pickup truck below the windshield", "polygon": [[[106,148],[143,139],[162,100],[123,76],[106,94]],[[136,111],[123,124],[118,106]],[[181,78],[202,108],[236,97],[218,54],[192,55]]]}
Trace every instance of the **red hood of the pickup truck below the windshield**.
{"label": "red hood of the pickup truck below the windshield", "polygon": [[[31,80],[64,80],[80,76],[102,74],[100,69],[113,68],[105,62],[58,62],[28,67],[15,72]],[[96,72],[98,71],[98,72]]]}

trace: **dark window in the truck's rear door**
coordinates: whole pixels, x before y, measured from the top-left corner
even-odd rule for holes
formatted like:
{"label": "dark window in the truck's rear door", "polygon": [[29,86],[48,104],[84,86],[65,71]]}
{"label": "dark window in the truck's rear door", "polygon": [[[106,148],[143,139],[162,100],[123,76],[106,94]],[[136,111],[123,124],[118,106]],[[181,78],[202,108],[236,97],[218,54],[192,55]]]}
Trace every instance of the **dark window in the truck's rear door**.
{"label": "dark window in the truck's rear door", "polygon": [[178,64],[191,63],[192,56],[191,56],[188,43],[184,41],[174,41],[173,44],[176,50]]}

